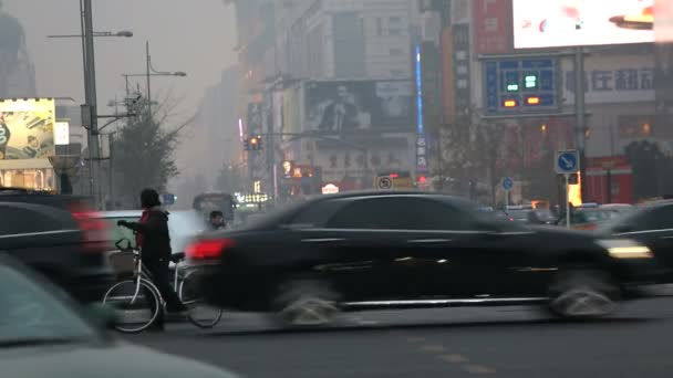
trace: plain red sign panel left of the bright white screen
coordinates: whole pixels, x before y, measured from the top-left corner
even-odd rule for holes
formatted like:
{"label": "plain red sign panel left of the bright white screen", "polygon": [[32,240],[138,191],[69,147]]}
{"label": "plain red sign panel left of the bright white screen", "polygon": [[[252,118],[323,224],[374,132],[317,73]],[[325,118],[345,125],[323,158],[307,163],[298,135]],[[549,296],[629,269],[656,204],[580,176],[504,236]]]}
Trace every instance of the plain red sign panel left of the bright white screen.
{"label": "plain red sign panel left of the bright white screen", "polygon": [[511,0],[475,0],[473,14],[477,54],[507,54],[514,50]]}

